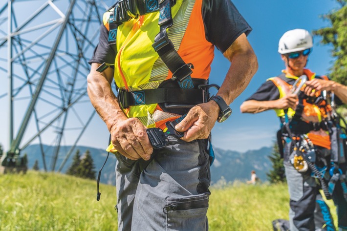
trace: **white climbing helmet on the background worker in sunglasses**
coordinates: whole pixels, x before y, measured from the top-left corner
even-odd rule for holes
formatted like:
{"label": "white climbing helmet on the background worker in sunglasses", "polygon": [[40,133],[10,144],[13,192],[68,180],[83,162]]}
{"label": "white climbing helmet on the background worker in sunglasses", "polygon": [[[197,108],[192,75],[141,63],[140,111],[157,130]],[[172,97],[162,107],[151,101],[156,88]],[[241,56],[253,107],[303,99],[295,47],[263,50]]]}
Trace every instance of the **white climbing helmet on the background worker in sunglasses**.
{"label": "white climbing helmet on the background worker in sunglasses", "polygon": [[294,29],[285,32],[278,43],[278,52],[287,54],[302,51],[313,46],[312,36],[307,30]]}

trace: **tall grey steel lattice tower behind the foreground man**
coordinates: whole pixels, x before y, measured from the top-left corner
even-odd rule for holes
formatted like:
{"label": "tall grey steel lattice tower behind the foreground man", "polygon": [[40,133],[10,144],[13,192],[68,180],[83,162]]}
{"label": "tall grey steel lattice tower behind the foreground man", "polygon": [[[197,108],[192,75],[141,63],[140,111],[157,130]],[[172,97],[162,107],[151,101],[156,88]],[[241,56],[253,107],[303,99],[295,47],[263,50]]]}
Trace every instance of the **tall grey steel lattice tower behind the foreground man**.
{"label": "tall grey steel lattice tower behind the foreground man", "polygon": [[[73,137],[73,146],[58,170],[63,168],[95,114],[87,96],[87,61],[98,42],[103,12],[111,3],[0,3],[0,99],[8,99],[9,113],[9,121],[0,124],[8,127],[10,147],[1,165],[16,165],[20,151],[35,142],[40,144],[44,169],[49,155],[54,171],[64,139]],[[55,146],[54,152],[45,153],[43,144]]]}

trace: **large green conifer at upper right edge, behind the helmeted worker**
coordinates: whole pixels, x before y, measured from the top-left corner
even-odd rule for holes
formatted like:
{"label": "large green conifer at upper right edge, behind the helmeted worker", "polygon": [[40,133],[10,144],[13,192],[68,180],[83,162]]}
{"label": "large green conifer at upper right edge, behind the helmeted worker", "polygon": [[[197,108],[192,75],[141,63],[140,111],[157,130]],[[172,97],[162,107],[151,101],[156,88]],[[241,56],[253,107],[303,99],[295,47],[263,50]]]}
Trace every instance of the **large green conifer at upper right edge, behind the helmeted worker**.
{"label": "large green conifer at upper right edge, behind the helmeted worker", "polygon": [[330,78],[347,85],[347,0],[336,0],[341,8],[323,16],[330,21],[331,26],[313,31],[314,35],[322,37],[321,43],[332,44],[332,57],[334,64],[330,68]]}

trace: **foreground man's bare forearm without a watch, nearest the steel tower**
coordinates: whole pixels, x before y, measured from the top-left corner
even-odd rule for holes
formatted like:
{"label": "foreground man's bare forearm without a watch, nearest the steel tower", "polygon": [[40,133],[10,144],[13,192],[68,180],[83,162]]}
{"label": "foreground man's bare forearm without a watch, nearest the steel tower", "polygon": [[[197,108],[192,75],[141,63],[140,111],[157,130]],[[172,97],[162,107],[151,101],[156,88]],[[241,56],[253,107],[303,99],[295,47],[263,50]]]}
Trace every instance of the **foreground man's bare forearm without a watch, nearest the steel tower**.
{"label": "foreground man's bare forearm without a watch, nearest the steel tower", "polygon": [[118,105],[108,80],[101,74],[91,72],[87,77],[87,92],[91,104],[105,122],[108,130],[120,119],[127,119]]}

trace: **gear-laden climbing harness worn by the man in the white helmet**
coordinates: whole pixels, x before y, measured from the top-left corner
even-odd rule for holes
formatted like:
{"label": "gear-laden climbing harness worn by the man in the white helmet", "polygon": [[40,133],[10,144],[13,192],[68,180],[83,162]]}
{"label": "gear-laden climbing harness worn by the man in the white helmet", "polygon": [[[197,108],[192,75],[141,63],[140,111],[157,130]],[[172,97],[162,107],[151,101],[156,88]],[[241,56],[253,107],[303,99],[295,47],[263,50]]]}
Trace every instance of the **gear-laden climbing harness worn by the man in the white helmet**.
{"label": "gear-laden climbing harness worn by the man in the white helmet", "polygon": [[[286,142],[292,142],[294,145],[293,153],[288,153],[291,156],[291,163],[299,172],[305,172],[308,168],[310,168],[313,176],[320,181],[322,190],[327,199],[332,198],[335,185],[337,182],[340,182],[343,189],[344,198],[347,201],[346,174],[344,174],[342,169],[339,168],[340,164],[346,163],[347,155],[346,131],[343,131],[343,128],[340,126],[340,120],[343,120],[343,118],[333,110],[330,115],[331,117],[328,120],[320,123],[307,124],[302,121],[301,116],[304,110],[304,93],[299,91],[298,98],[299,102],[294,116],[289,121],[287,110],[285,110],[285,121],[282,122],[282,136],[286,139]],[[315,99],[311,99],[311,102],[315,105],[319,105],[323,100],[327,100],[326,92],[323,92],[323,96],[321,94]],[[345,121],[344,123],[347,125]],[[330,134],[331,157],[329,172],[326,172],[328,169],[327,163],[325,163],[323,166],[316,165],[316,148],[309,137],[305,134],[310,130],[317,131],[321,128],[328,130]],[[325,161],[323,161],[323,163],[324,162]]]}

